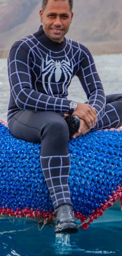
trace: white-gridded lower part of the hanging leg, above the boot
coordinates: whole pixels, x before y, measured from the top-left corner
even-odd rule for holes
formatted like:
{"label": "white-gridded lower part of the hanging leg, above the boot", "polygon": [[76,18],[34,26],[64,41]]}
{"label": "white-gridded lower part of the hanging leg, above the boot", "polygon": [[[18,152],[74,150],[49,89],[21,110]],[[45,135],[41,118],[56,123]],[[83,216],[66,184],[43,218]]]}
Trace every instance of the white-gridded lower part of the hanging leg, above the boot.
{"label": "white-gridded lower part of the hanging leg, above the boot", "polygon": [[[54,208],[59,204],[70,203],[68,176],[70,156],[41,157],[41,165],[53,200]],[[44,168],[46,167],[46,168]]]}

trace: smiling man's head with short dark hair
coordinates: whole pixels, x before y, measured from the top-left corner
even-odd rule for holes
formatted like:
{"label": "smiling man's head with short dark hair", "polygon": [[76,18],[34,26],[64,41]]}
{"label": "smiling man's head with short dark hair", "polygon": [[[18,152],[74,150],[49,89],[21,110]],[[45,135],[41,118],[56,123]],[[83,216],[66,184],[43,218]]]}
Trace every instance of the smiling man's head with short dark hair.
{"label": "smiling man's head with short dark hair", "polygon": [[40,10],[40,21],[45,34],[52,41],[61,43],[67,34],[73,13],[68,0],[48,0],[44,12]]}

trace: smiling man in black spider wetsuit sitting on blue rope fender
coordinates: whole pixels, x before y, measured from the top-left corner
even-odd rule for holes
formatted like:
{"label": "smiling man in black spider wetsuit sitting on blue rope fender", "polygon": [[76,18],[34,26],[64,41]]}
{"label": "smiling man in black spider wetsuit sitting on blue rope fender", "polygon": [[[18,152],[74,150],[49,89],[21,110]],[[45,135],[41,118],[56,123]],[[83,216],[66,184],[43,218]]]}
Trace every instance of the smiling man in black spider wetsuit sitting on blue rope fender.
{"label": "smiling man in black spider wetsuit sitting on blue rope fender", "polygon": [[[41,165],[57,216],[56,233],[78,231],[68,187],[69,135],[76,138],[122,124],[122,94],[105,96],[87,47],[64,37],[72,8],[73,0],[43,0],[43,26],[16,41],[8,56],[8,127],[18,139],[41,143]],[[74,75],[87,103],[67,99]]]}

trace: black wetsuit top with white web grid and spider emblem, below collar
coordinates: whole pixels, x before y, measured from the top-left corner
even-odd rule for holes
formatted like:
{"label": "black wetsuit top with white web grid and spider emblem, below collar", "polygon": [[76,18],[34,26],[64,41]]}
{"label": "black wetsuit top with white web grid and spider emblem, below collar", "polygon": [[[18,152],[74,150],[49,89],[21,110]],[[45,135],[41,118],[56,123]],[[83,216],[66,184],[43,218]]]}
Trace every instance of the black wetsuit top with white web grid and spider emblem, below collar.
{"label": "black wetsuit top with white web grid and spider emblem, below collar", "polygon": [[[43,65],[45,71],[42,68]],[[51,75],[48,72],[49,69]],[[61,79],[59,79],[60,72]],[[94,104],[97,99],[101,101],[99,95],[103,96],[103,104],[97,102],[94,106],[100,117],[104,112],[105,95],[94,60],[87,47],[66,38],[64,48],[54,52],[45,47],[44,43],[38,41],[34,35],[30,35],[18,40],[9,53],[8,75],[16,110],[18,107],[18,110],[68,112],[70,108],[70,100],[66,98],[68,86],[75,74],[81,81],[89,104],[91,104],[91,95],[92,99],[94,98]],[[99,95],[98,89],[101,89]],[[92,106],[94,104],[92,101]]]}

